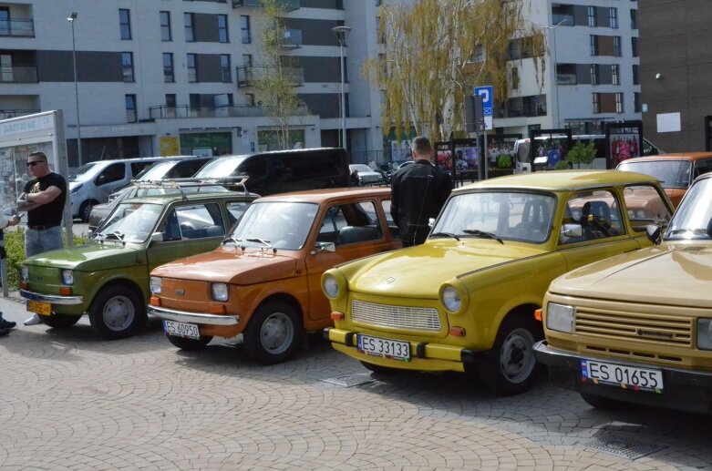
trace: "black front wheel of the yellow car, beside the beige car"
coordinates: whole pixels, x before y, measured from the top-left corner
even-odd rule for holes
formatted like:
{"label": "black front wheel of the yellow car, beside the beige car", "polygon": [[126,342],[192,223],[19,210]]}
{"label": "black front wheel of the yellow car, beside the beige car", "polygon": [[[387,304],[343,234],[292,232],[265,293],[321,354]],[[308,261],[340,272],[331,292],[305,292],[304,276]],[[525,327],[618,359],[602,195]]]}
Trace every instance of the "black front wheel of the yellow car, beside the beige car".
{"label": "black front wheel of the yellow car, beside the beige car", "polygon": [[523,315],[507,317],[478,368],[481,383],[499,395],[527,391],[540,370],[534,357],[534,343],[542,338],[542,328],[533,319]]}

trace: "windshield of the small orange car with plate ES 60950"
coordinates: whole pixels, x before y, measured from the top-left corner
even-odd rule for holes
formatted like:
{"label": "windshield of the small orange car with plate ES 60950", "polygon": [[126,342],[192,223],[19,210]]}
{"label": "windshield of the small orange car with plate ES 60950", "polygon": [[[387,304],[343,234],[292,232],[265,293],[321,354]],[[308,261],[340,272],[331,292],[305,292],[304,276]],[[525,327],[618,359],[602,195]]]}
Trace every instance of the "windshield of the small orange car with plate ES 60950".
{"label": "windshield of the small orange car with plate ES 60950", "polygon": [[268,246],[298,251],[304,247],[318,210],[314,203],[253,203],[226,241],[243,247]]}

